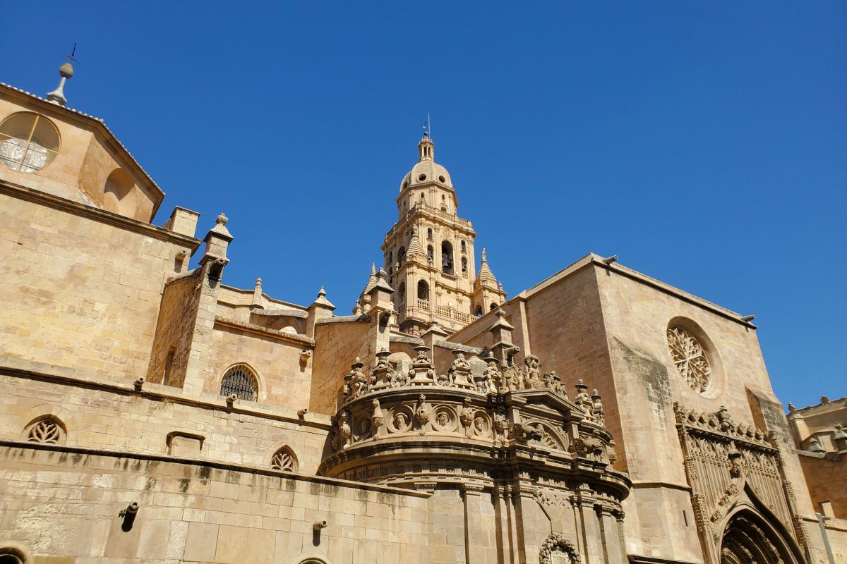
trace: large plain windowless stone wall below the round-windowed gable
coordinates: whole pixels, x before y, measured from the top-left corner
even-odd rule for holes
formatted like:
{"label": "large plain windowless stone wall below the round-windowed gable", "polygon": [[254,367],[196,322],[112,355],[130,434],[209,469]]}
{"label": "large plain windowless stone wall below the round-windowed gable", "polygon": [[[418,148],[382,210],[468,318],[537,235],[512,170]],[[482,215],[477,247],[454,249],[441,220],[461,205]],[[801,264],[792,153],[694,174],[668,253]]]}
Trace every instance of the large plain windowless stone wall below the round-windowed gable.
{"label": "large plain windowless stone wall below the round-windowed gable", "polygon": [[0,354],[147,375],[164,279],[195,240],[83,208],[0,194]]}

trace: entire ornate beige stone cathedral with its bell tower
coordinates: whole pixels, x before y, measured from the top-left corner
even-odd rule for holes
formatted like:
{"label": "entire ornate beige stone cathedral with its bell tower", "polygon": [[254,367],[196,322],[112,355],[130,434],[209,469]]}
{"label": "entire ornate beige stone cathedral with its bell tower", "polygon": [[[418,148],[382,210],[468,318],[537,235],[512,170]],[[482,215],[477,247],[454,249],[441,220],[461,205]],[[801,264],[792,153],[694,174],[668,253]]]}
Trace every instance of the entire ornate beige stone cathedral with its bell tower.
{"label": "entire ornate beige stone cathedral with its bell tower", "polygon": [[152,223],[73,73],[0,85],[0,564],[847,562],[847,398],[787,416],[752,316],[508,294],[429,134],[355,304],[230,286],[246,218]]}

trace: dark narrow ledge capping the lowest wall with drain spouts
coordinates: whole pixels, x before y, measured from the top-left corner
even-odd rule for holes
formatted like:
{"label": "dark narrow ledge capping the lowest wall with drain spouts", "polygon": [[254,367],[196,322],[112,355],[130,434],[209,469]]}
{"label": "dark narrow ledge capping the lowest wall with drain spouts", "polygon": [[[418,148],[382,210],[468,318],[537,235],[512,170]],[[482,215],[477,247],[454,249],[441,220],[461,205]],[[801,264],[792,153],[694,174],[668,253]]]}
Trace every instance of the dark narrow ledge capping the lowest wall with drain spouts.
{"label": "dark narrow ledge capping the lowest wall with drain spouts", "polygon": [[87,456],[113,457],[113,458],[132,458],[135,460],[150,460],[162,463],[174,464],[190,464],[191,466],[204,466],[207,468],[216,468],[220,470],[229,470],[235,472],[243,472],[245,474],[258,474],[262,476],[272,476],[274,478],[288,478],[313,482],[315,484],[335,485],[342,487],[356,488],[357,490],[377,491],[384,494],[395,494],[400,496],[411,497],[429,497],[431,494],[425,491],[407,490],[404,488],[395,488],[388,485],[374,485],[367,482],[354,482],[349,479],[328,478],[325,476],[313,476],[311,474],[297,474],[295,472],[281,472],[271,468],[258,468],[256,466],[242,466],[232,463],[221,463],[213,460],[203,460],[201,458],[174,457],[166,454],[145,454],[143,452],[127,452],[127,451],[112,451],[102,448],[89,448],[87,446],[68,446],[68,445],[51,445],[32,441],[9,441],[0,439],[0,446],[8,446],[9,448],[23,448],[33,451],[51,451],[51,452],[70,452],[75,454],[84,454]]}

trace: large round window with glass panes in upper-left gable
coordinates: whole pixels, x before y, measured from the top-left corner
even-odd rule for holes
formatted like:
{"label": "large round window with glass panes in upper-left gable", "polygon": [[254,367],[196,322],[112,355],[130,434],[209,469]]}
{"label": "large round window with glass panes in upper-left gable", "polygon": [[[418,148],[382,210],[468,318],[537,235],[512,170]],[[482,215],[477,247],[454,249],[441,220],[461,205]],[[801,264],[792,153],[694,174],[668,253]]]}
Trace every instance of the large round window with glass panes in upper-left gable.
{"label": "large round window with glass panes in upper-left gable", "polygon": [[18,112],[0,123],[0,162],[12,170],[38,172],[59,148],[58,129],[33,112]]}

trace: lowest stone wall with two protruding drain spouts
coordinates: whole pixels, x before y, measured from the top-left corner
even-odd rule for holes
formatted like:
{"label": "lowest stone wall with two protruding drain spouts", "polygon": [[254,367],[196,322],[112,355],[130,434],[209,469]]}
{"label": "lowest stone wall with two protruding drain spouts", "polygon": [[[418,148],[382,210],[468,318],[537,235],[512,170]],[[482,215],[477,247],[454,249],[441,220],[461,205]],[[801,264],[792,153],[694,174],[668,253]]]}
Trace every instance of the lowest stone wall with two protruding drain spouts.
{"label": "lowest stone wall with two protruding drain spouts", "polygon": [[[0,461],[0,540],[30,556],[77,564],[429,561],[426,495],[414,491],[8,441],[0,441]],[[119,512],[132,502],[139,509],[125,530]],[[314,531],[323,520],[326,528]]]}

